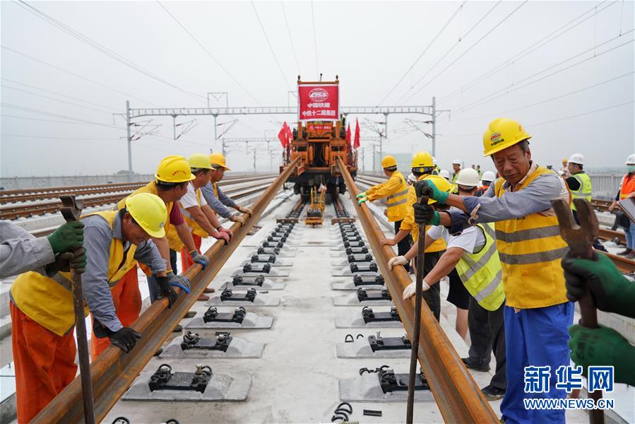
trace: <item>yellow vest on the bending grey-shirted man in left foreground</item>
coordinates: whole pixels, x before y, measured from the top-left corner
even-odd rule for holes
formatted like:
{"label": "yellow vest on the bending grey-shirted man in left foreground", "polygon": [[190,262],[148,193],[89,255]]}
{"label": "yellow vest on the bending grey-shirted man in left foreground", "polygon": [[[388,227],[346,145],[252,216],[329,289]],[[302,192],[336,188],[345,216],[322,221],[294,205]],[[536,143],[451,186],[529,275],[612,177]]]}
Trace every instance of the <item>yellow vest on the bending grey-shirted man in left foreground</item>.
{"label": "yellow vest on the bending grey-shirted man in left foreground", "polygon": [[[117,211],[104,211],[87,216],[99,215],[112,228],[117,213]],[[126,272],[136,266],[135,252],[136,246],[133,244],[130,244],[128,250],[124,252],[124,244],[121,240],[112,237],[107,273],[107,283],[111,290]],[[64,336],[75,325],[71,273],[59,272],[52,278],[34,271],[20,274],[11,285],[11,299],[30,319],[58,336]],[[88,306],[85,302],[84,315],[88,316]]]}

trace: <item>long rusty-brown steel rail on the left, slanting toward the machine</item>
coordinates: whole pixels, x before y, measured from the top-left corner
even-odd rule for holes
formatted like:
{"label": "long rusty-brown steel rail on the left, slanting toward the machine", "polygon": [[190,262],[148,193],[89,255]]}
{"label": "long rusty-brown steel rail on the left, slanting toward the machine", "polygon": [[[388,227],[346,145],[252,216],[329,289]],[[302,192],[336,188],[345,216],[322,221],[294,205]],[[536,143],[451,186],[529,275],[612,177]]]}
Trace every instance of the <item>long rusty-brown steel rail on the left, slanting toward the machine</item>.
{"label": "long rusty-brown steel rail on the left, slanting toward the machine", "polygon": [[[241,240],[247,235],[249,229],[258,222],[261,214],[275,194],[280,190],[292,170],[297,167],[299,159],[287,165],[283,172],[271,184],[268,189],[251,206],[253,215],[242,226],[240,223],[232,225],[234,237],[229,245],[217,242],[205,252],[210,259],[206,269],[194,264],[185,273],[191,278],[191,292],[189,295],[179,295],[179,298],[171,309],[167,309],[167,299],[154,302],[141,314],[131,327],[141,333],[142,337],[130,353],[124,354],[121,349],[109,346],[90,366],[90,375],[93,380],[93,393],[95,394],[95,419],[100,422],[105,418],[117,400],[126,392],[128,387],[136,379],[143,367],[153,358],[155,352],[162,343],[172,335],[172,329],[177,326],[182,317],[190,310],[198,295],[203,293],[208,283],[216,276],[218,271],[230,258],[232,252],[239,246]],[[179,292],[179,289],[176,289]],[[71,382],[59,393],[40,413],[33,418],[31,423],[82,423],[83,406],[81,402],[80,377]]]}

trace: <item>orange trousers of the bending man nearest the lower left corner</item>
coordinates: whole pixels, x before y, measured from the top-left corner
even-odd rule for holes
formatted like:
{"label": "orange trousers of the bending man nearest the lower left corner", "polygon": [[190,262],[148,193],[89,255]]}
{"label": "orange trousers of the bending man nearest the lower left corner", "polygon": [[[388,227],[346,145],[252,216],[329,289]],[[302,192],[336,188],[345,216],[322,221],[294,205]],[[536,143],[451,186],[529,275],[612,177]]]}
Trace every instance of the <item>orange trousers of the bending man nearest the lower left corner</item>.
{"label": "orange trousers of the bending man nearest the lower left corner", "polygon": [[75,378],[73,331],[58,336],[9,301],[18,423],[28,423]]}

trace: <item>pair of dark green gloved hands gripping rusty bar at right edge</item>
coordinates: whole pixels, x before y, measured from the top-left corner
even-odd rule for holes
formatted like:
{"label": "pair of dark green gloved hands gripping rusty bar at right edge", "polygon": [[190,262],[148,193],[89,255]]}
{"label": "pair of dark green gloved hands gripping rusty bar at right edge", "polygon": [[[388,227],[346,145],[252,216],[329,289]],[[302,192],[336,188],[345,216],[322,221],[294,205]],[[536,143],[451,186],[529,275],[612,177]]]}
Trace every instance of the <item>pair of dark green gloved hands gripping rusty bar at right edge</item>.
{"label": "pair of dark green gloved hands gripping rusty bar at right edge", "polygon": [[[593,260],[562,259],[566,296],[572,302],[588,290],[599,310],[635,318],[635,283],[629,281],[605,254],[593,253]],[[615,367],[615,382],[635,386],[635,346],[614,329],[600,325],[588,329],[580,325],[569,328],[571,360],[582,365],[585,376],[589,365]]]}

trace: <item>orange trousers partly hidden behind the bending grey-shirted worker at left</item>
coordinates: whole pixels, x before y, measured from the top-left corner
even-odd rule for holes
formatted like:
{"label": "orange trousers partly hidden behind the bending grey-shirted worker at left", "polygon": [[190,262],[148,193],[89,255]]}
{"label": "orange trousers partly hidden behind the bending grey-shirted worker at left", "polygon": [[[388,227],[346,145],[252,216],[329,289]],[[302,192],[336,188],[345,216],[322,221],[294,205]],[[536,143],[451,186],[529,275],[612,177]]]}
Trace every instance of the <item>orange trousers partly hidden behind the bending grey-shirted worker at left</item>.
{"label": "orange trousers partly hidden behind the bending grey-shirted worker at left", "polygon": [[[110,290],[114,310],[123,326],[131,326],[141,313],[141,292],[139,291],[139,279],[137,267],[126,272],[119,282]],[[93,315],[91,314],[92,318]],[[90,338],[90,359],[95,361],[105,349],[110,346],[107,337],[97,338],[95,334]]]}

